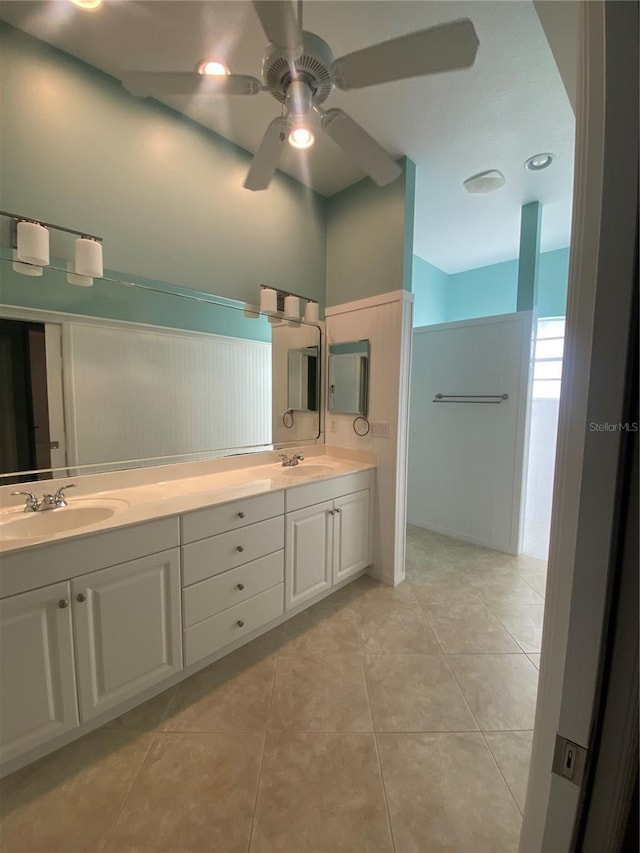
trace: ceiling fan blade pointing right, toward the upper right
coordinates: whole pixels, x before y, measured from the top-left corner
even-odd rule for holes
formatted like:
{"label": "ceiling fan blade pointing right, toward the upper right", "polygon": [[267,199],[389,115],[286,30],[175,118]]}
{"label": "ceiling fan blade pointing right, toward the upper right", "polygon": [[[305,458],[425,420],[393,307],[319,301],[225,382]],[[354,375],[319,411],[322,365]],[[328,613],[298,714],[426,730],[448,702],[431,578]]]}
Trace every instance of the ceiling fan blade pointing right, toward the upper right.
{"label": "ceiling fan blade pointing right, toward the upper right", "polygon": [[391,80],[439,74],[473,65],[478,36],[468,18],[383,41],[336,59],[331,67],[339,89],[361,89]]}

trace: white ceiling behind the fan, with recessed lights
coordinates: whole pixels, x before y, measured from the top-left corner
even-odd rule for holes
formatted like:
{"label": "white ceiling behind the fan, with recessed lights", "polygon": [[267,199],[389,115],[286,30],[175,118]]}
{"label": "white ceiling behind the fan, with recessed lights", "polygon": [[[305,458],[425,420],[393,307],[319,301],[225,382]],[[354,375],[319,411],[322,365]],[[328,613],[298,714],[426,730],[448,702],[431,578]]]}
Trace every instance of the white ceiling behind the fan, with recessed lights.
{"label": "white ceiling behind the fan, with recessed lights", "polygon": [[[68,0],[4,2],[0,17],[115,77],[131,70],[189,71],[210,56],[225,59],[234,73],[259,77],[265,47],[247,0],[106,0],[94,13]],[[471,18],[480,40],[471,69],[336,90],[326,104],[348,111],[394,156],[416,163],[414,251],[448,273],[516,257],[520,207],[529,201],[543,205],[543,251],[569,243],[574,117],[533,4],[304,4],[304,28],[328,41],[335,56],[462,17]],[[569,55],[573,47],[567,45]],[[280,110],[266,93],[166,103],[249,151]],[[556,155],[553,166],[525,171],[527,157],[541,151]],[[322,134],[309,152],[288,149],[281,168],[324,195],[363,177]],[[469,195],[462,181],[487,169],[503,172],[506,185],[492,195]]]}

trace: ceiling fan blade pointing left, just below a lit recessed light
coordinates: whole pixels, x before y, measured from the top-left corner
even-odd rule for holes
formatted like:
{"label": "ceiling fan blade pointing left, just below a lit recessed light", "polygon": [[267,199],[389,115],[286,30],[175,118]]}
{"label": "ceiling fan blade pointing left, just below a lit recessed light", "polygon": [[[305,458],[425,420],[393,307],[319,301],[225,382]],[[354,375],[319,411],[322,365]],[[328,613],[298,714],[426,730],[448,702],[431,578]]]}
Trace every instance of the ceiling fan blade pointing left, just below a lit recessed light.
{"label": "ceiling fan blade pointing left, just below a lit recessed light", "polygon": [[262,83],[245,74],[209,76],[197,71],[127,71],[122,85],[132,95],[257,95]]}

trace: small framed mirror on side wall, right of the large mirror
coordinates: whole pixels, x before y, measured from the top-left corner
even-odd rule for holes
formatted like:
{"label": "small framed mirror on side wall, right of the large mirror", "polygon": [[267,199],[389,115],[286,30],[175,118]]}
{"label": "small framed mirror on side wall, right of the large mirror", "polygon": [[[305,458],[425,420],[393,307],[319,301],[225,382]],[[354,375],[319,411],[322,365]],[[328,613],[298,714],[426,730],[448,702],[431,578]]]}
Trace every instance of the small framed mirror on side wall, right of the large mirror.
{"label": "small framed mirror on side wall, right of the large mirror", "polygon": [[330,412],[366,415],[369,408],[369,341],[329,347]]}

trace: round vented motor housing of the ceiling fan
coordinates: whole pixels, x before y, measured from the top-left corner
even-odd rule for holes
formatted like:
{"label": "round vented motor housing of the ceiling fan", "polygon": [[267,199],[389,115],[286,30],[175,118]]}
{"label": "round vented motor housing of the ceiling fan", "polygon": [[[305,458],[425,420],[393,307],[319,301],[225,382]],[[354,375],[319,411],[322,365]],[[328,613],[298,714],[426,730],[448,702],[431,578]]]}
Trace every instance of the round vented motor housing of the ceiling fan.
{"label": "round vented motor housing of the ceiling fan", "polygon": [[294,60],[289,58],[285,49],[267,45],[262,61],[262,80],[281,104],[287,102],[287,88],[294,80],[301,80],[311,88],[316,105],[326,101],[333,89],[331,48],[315,33],[304,31],[302,38],[302,55]]}

